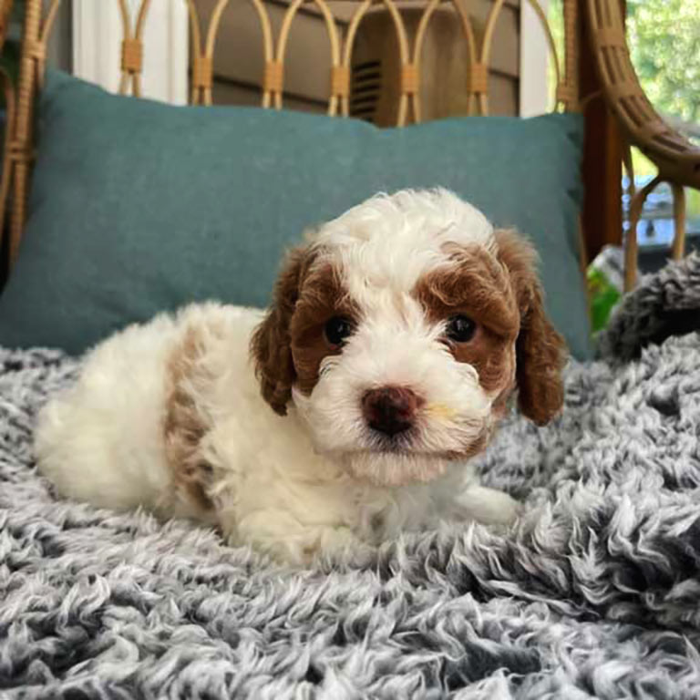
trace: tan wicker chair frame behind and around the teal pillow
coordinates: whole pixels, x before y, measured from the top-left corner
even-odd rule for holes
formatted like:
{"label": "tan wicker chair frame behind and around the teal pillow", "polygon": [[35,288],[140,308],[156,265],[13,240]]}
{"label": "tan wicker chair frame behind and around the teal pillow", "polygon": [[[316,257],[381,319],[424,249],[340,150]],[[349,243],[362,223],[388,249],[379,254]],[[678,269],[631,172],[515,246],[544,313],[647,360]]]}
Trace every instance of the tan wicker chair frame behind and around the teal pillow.
{"label": "tan wicker chair frame behind and around the teal pillow", "polygon": [[[135,17],[129,13],[127,0],[118,2],[123,40],[121,44],[120,92],[140,96],[143,56],[144,26],[148,21],[150,0],[141,0]],[[242,0],[238,0],[242,2]],[[290,29],[305,0],[292,0],[288,5],[283,23],[274,36],[265,0],[250,0],[262,29],[262,51],[264,70],[261,76],[261,103],[263,108],[283,107],[284,65]],[[623,129],[629,144],[639,147],[654,161],[658,176],[633,197],[631,224],[626,242],[627,287],[632,286],[636,276],[636,221],[643,201],[661,181],[670,182],[675,195],[674,257],[683,254],[685,245],[684,186],[700,187],[700,150],[680,136],[654,111],[634,73],[624,36],[623,15],[619,0],[563,0],[564,8],[564,52],[557,56],[547,17],[537,0],[529,2],[540,18],[547,42],[554,57],[557,108],[577,111],[587,103],[579,86],[579,37],[583,18],[580,11],[585,7],[592,37],[592,51],[596,58],[602,97],[612,109]],[[102,0],[108,2],[108,0]],[[209,105],[212,101],[212,61],[221,16],[232,0],[217,0],[207,26],[201,25],[195,0],[181,0],[187,4],[190,14],[190,44],[192,48],[190,103]],[[324,19],[330,40],[331,62],[329,67],[328,114],[347,117],[351,94],[351,66],[358,26],[363,17],[377,6],[381,6],[392,18],[400,60],[400,80],[396,106],[396,126],[402,127],[409,120],[421,120],[421,50],[431,16],[439,5],[451,5],[458,16],[465,41],[468,44],[469,80],[468,105],[472,113],[489,113],[489,59],[493,43],[494,27],[505,0],[494,0],[489,15],[479,31],[473,26],[466,0],[426,0],[420,7],[422,17],[413,41],[409,41],[402,5],[396,0],[345,0],[345,11],[352,5],[353,14],[345,31],[340,36],[334,20],[335,0],[310,0]],[[33,107],[36,90],[40,88],[46,64],[46,42],[54,25],[61,0],[52,0],[45,11],[43,0],[26,0],[26,16],[22,44],[21,66],[18,86],[4,71],[0,71],[7,120],[5,129],[5,156],[0,189],[0,221],[5,220],[5,210],[11,198],[9,222],[10,261],[15,258],[17,247],[26,221],[26,195],[33,160]],[[5,39],[6,19],[12,0],[0,0],[0,41]],[[415,9],[415,4],[412,7]],[[582,263],[584,261],[582,246]]]}

